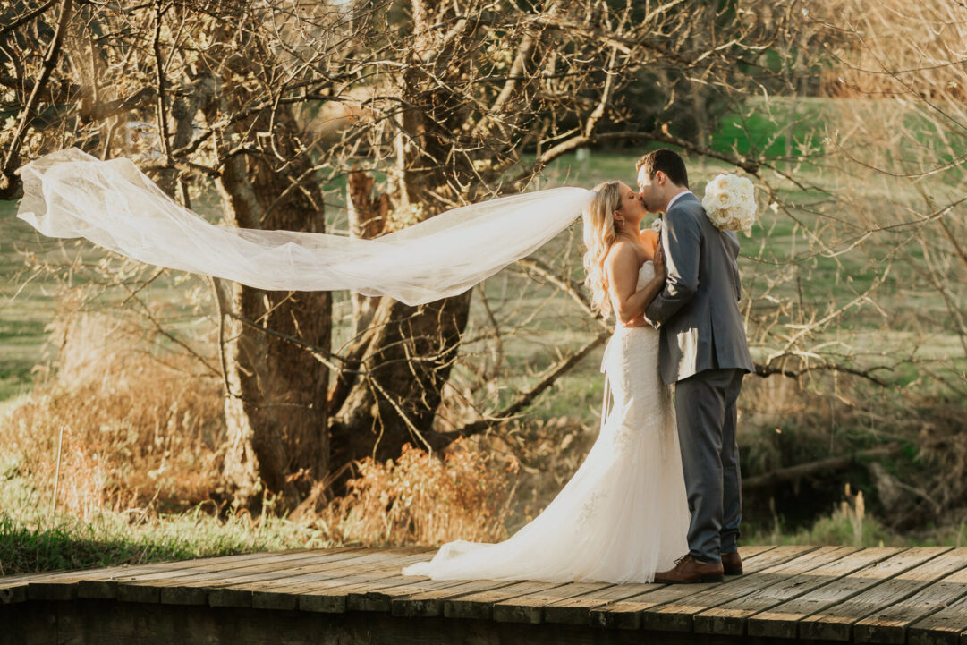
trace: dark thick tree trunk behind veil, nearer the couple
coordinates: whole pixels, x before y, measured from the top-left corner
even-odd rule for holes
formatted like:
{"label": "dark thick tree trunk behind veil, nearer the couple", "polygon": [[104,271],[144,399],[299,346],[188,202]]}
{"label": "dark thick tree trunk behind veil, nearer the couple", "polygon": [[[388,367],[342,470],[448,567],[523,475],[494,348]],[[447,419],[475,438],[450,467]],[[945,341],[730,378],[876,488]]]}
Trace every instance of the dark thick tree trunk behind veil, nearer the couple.
{"label": "dark thick tree trunk behind veil, nearer the couple", "polygon": [[[421,124],[408,126],[421,130]],[[400,152],[400,166],[413,163]],[[425,186],[439,180],[434,172],[399,173],[400,200],[423,196]],[[407,186],[407,179],[413,183]],[[378,237],[393,228],[388,196],[373,196],[372,185],[364,172],[349,176],[350,228],[358,237]],[[454,437],[434,433],[431,426],[467,324],[471,292],[415,308],[386,297],[353,297],[357,337],[329,396],[334,469],[366,456],[396,458],[406,443],[446,446]],[[334,479],[332,494],[342,494],[351,474],[343,470]]]}

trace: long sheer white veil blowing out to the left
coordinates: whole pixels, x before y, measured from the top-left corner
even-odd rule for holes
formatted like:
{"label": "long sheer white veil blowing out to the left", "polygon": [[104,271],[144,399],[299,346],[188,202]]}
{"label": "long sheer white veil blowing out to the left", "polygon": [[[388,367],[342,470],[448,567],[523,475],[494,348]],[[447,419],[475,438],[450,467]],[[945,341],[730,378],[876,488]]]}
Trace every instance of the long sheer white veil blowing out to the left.
{"label": "long sheer white veil blowing out to the left", "polygon": [[456,208],[375,240],[218,226],[168,197],[128,159],[75,148],[22,166],[17,217],[135,260],[275,291],[349,289],[407,305],[454,296],[538,249],[594,192],[558,188]]}

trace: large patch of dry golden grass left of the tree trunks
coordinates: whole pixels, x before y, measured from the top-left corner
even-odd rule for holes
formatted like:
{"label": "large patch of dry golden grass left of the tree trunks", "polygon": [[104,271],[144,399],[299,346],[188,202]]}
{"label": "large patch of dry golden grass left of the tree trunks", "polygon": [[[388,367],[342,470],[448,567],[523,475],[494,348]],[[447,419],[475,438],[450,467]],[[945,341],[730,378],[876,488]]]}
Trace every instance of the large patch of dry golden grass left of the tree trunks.
{"label": "large patch of dry golden grass left of the tree trunks", "polygon": [[152,347],[143,330],[97,314],[54,326],[57,369],[0,422],[0,444],[58,509],[174,511],[220,486],[220,383],[193,359]]}

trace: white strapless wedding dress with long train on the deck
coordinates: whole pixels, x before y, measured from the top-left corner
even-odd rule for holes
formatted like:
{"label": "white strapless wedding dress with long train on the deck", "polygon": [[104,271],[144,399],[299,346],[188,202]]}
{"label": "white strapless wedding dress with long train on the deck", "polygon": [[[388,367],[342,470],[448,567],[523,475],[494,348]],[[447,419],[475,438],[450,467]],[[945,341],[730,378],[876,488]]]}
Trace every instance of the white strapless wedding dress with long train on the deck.
{"label": "white strapless wedding dress with long train on the deck", "polygon": [[[638,271],[638,289],[655,275]],[[651,582],[689,552],[689,508],[659,332],[618,326],[601,362],[601,431],[543,512],[495,544],[458,540],[402,570],[437,580]],[[606,412],[608,390],[614,405]]]}

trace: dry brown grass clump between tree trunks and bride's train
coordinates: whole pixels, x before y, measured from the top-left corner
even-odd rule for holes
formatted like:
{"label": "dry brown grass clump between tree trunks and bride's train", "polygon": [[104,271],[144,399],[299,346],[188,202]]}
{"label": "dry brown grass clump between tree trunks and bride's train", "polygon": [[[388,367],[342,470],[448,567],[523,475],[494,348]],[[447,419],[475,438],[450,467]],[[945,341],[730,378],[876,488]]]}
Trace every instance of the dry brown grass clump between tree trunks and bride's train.
{"label": "dry brown grass clump between tree trunks and bride's train", "polygon": [[498,464],[457,441],[443,459],[406,445],[396,461],[364,459],[358,473],[345,496],[308,519],[330,540],[372,546],[507,538],[514,461]]}

